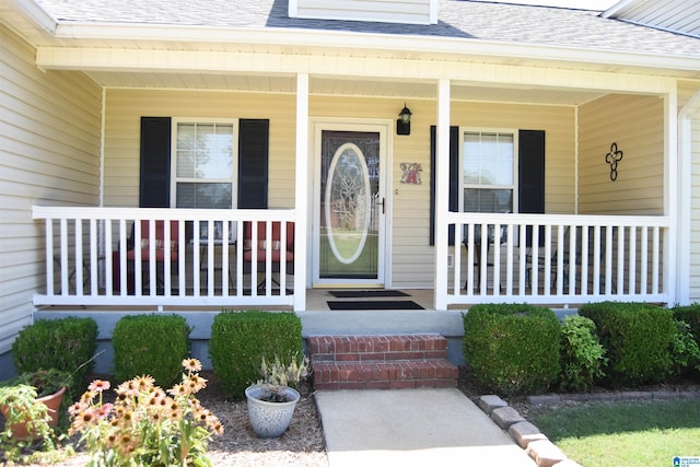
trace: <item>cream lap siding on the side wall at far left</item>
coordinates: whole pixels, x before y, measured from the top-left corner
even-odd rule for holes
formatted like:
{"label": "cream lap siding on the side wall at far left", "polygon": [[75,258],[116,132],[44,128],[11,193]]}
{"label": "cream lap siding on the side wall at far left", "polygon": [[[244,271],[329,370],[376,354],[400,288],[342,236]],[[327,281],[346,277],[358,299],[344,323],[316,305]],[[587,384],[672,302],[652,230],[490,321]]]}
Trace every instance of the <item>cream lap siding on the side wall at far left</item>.
{"label": "cream lap siding on the side wall at far left", "polygon": [[33,205],[96,206],[102,91],[80,72],[43,72],[0,24],[0,354],[31,323],[45,281]]}

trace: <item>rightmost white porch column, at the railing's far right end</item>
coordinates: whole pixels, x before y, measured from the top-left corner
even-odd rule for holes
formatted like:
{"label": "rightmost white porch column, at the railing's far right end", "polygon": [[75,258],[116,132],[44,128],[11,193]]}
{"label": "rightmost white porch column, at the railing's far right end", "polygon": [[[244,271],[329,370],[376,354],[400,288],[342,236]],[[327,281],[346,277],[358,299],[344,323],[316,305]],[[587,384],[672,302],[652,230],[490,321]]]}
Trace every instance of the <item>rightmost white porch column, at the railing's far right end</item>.
{"label": "rightmost white porch column, at the railing's far right end", "polygon": [[[669,80],[668,92],[664,98],[664,213],[670,220],[670,226],[664,237],[664,292],[668,294],[668,306],[673,306],[679,291],[690,287],[688,278],[678,276],[678,260],[684,254],[678,252],[679,207],[678,195],[681,180],[678,178],[678,92],[675,80]],[[680,253],[680,255],[679,255]],[[684,283],[680,283],[684,282]]]}

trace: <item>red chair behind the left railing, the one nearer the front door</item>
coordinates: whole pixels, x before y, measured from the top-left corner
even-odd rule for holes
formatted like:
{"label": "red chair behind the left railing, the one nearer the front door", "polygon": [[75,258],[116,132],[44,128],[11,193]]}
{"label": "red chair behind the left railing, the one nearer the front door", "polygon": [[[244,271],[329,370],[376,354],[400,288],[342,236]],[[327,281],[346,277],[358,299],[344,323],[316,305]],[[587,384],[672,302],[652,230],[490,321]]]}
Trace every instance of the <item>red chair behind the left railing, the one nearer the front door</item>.
{"label": "red chair behind the left railing, the one nearer the front door", "polygon": [[[253,238],[253,223],[246,222],[244,225],[243,237],[243,271],[250,273],[253,271],[253,261],[257,264],[257,272],[267,272],[267,222],[261,221],[257,223],[257,241]],[[271,272],[280,272],[280,265],[282,261],[285,264],[287,273],[294,273],[294,223],[287,222],[287,237],[284,242],[284,256],[282,256],[282,227],[281,222],[272,222],[272,233],[270,241],[270,261]],[[265,275],[267,277],[267,273]],[[280,285],[280,282],[275,278],[271,278],[272,282]],[[258,283],[258,289],[264,288],[266,279],[264,278]]]}

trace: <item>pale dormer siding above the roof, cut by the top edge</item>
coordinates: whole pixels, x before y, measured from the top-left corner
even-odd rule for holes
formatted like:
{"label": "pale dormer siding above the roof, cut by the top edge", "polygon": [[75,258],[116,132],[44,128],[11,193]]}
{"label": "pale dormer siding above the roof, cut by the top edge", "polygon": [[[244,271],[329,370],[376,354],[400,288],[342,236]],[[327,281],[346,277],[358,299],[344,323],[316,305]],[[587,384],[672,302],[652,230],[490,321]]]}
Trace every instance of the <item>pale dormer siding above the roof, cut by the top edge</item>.
{"label": "pale dormer siding above the roof, cut by the top edge", "polygon": [[[438,0],[290,0],[292,17],[430,24]],[[436,8],[436,7],[435,7]]]}

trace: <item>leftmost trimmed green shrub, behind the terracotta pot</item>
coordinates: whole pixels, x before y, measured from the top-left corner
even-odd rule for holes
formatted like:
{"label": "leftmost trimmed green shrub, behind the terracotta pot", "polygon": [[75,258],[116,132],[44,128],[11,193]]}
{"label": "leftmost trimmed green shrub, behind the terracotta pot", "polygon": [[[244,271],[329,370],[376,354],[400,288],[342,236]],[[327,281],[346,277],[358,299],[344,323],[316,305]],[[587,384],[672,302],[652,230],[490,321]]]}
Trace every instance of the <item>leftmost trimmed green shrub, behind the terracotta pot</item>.
{"label": "leftmost trimmed green shrub, behind the terracotta pot", "polygon": [[18,373],[56,369],[72,374],[82,387],[94,366],[97,323],[92,318],[39,319],[20,331],[12,343]]}

